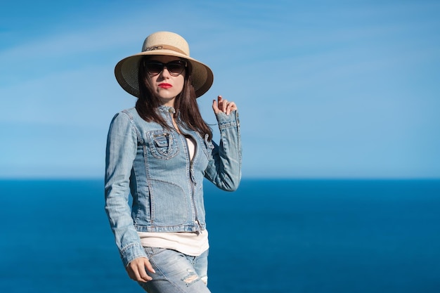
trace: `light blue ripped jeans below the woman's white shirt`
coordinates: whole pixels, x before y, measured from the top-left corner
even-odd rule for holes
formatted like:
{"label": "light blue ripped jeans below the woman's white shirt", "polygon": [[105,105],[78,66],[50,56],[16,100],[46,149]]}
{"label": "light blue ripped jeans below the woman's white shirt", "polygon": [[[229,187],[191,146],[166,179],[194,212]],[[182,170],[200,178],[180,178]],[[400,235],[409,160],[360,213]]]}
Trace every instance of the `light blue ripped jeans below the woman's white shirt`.
{"label": "light blue ripped jeans below the woman's white shirt", "polygon": [[144,247],[156,273],[150,282],[139,282],[148,293],[209,293],[207,287],[208,250],[188,256],[172,249]]}

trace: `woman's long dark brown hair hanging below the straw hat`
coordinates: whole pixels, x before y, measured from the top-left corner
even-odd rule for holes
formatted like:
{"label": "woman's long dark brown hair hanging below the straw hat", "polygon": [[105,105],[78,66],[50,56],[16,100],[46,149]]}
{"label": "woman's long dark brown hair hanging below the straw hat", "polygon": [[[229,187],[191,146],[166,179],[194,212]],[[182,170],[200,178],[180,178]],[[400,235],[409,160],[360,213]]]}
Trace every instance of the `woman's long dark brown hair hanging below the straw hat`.
{"label": "woman's long dark brown hair hanging below the straw hat", "polygon": [[[167,124],[163,117],[156,111],[161,103],[159,97],[153,93],[150,77],[148,77],[148,73],[146,73],[145,70],[145,60],[147,60],[147,58],[144,58],[139,63],[138,83],[141,94],[136,101],[136,111],[146,122],[156,122],[165,129],[170,129],[169,124]],[[205,137],[205,134],[208,134],[208,139],[211,141],[212,129],[205,120],[202,119],[202,115],[200,115],[192,83],[193,79],[191,71],[192,67],[190,63],[188,63],[183,89],[181,93],[176,96],[174,101],[174,109],[176,110],[174,117],[179,126],[197,131],[202,137]],[[177,119],[178,117],[179,119]]]}

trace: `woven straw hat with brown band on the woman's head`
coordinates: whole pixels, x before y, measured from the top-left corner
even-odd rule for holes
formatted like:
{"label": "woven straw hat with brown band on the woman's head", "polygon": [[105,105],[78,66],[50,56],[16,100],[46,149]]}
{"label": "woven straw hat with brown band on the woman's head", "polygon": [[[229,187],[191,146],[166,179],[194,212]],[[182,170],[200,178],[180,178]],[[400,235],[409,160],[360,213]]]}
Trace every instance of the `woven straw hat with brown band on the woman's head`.
{"label": "woven straw hat with brown band on the woman's head", "polygon": [[143,56],[166,55],[188,60],[193,68],[195,96],[200,97],[212,86],[214,75],[207,65],[190,58],[188,43],[174,32],[155,32],[143,42],[141,53],[120,60],[115,67],[115,76],[122,89],[139,97],[138,70]]}

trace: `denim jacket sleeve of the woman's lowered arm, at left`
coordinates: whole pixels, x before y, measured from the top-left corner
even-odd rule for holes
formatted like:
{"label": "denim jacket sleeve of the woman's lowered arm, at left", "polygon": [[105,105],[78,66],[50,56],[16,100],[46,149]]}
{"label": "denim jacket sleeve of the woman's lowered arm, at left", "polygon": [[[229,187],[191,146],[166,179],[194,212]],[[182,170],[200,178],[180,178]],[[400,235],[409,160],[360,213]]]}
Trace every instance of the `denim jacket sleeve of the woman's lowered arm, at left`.
{"label": "denim jacket sleeve of the woman's lowered arm, at left", "polygon": [[129,207],[129,182],[136,148],[134,125],[128,115],[118,113],[110,124],[105,151],[105,211],[124,266],[138,257],[147,257]]}

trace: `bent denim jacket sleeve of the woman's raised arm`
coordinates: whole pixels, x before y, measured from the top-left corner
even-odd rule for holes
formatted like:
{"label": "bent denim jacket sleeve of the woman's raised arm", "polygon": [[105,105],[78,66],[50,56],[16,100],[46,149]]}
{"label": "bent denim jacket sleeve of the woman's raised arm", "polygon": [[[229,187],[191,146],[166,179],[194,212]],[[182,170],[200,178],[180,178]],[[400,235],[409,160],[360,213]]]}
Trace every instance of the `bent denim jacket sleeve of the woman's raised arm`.
{"label": "bent denim jacket sleeve of the woman's raised arm", "polygon": [[219,122],[219,145],[212,142],[212,157],[205,170],[205,178],[217,187],[226,191],[238,188],[241,179],[242,147],[240,136],[240,119],[238,111],[229,115],[219,112],[216,115]]}

